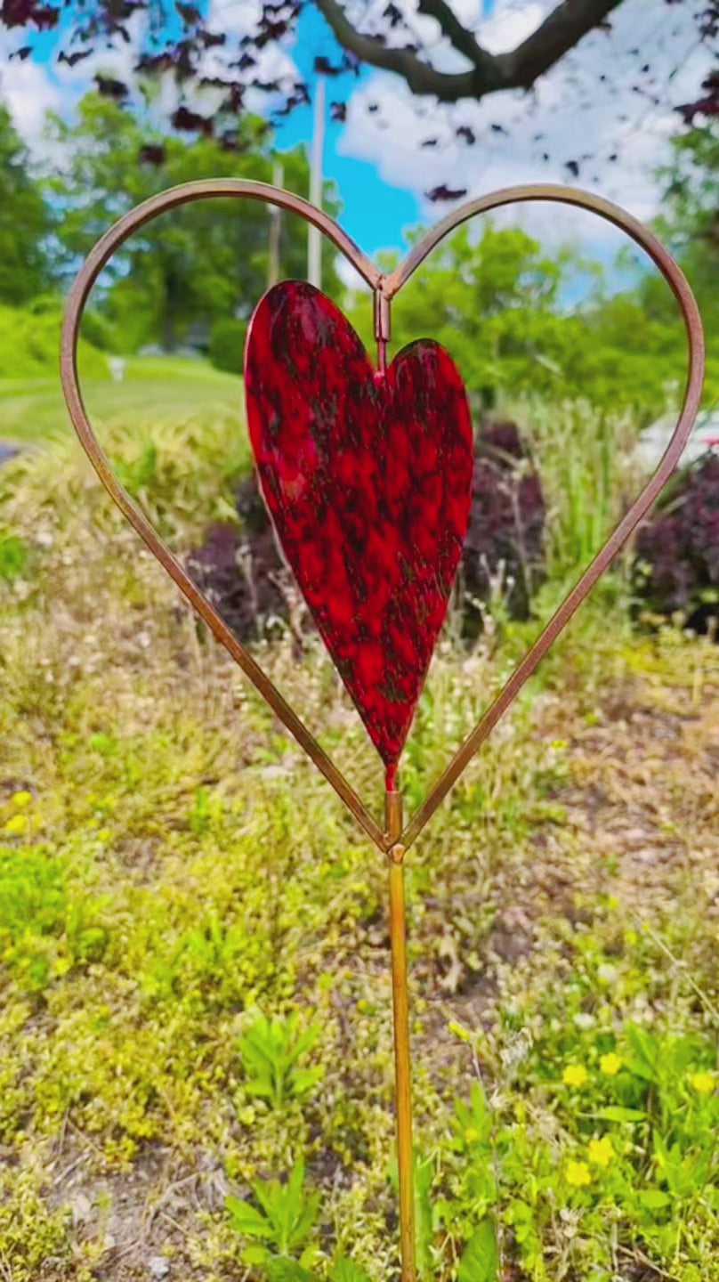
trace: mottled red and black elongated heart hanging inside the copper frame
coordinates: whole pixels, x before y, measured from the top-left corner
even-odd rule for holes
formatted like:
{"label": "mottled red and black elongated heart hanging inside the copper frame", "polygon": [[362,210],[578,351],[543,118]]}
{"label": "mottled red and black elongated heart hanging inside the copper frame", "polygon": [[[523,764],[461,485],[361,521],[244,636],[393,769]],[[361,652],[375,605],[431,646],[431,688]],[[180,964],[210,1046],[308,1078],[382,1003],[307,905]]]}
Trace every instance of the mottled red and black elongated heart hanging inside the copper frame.
{"label": "mottled red and black elongated heart hanging inside the copper frame", "polygon": [[387,767],[402,750],[469,519],[472,420],[438,344],[376,373],[329,299],[295,281],[250,322],[247,423],[285,555]]}

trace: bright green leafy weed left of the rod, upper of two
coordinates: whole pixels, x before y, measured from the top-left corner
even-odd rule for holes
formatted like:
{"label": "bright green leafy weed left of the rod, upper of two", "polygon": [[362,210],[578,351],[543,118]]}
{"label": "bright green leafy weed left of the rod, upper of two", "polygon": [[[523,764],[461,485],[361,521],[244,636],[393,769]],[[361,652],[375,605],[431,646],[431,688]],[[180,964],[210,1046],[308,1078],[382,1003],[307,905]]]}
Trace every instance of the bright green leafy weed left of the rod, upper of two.
{"label": "bright green leafy weed left of the rod, upper of two", "polygon": [[256,1015],[237,1047],[247,1077],[246,1091],[267,1100],[276,1109],[281,1109],[290,1099],[305,1099],[324,1076],[320,1064],[314,1068],[301,1068],[299,1064],[318,1037],[318,1027],[300,1031],[296,1013],[283,1019]]}

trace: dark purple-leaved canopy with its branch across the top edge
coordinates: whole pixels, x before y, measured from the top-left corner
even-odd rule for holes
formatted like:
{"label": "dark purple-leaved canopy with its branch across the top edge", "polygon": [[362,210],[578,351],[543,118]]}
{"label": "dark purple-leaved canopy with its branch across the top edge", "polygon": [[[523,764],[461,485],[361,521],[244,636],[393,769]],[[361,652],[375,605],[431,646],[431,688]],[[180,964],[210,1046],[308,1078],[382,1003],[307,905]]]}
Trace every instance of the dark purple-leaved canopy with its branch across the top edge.
{"label": "dark purple-leaved canopy with its branch across the top edge", "polygon": [[[310,100],[310,83],[282,56],[301,37],[302,14],[318,10],[331,31],[335,59],[318,51],[314,68],[326,76],[363,65],[399,77],[420,97],[441,103],[481,101],[508,90],[531,90],[547,72],[596,31],[611,28],[613,13],[632,0],[559,0],[543,21],[514,49],[492,53],[482,21],[468,23],[458,0],[387,0],[384,6],[360,0],[261,0],[246,5],[238,24],[227,24],[222,5],[174,0],[164,10],[153,0],[0,0],[0,19],[18,36],[15,56],[28,56],[37,31],[55,31],[55,56],[77,65],[112,47],[135,51],[133,72],[167,76],[177,82],[179,101],[170,112],[178,129],[229,138],[246,109],[249,91],[272,95],[281,113]],[[659,0],[665,21],[678,5],[692,5],[697,38],[719,41],[719,0]],[[269,59],[268,53],[278,55]],[[637,49],[646,62],[649,50]],[[681,62],[681,50],[677,58]],[[287,62],[287,60],[286,60]],[[679,65],[679,62],[677,65]],[[268,72],[268,65],[274,69]],[[611,69],[609,69],[611,73]],[[606,74],[602,74],[606,79]],[[117,101],[128,85],[97,76],[99,88]],[[697,86],[696,100],[675,104],[686,119],[719,113],[719,74]],[[332,103],[336,119],[346,104]],[[467,138],[469,141],[469,133]]]}

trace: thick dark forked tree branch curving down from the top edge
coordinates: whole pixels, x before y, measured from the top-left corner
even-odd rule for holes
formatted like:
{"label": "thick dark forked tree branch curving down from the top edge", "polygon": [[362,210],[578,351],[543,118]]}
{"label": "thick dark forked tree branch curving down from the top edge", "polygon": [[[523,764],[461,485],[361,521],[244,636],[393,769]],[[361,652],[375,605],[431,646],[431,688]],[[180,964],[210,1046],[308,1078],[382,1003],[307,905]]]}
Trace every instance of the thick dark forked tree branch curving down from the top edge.
{"label": "thick dark forked tree branch curving down from the top edge", "polygon": [[419,12],[440,23],[442,33],[472,63],[467,72],[438,72],[411,49],[391,49],[365,36],[347,19],[338,0],[314,0],[336,38],[369,67],[401,76],[413,94],[434,95],[442,103],[479,100],[500,90],[531,88],[622,0],[563,0],[537,29],[506,54],[490,54],[460,23],[447,0],[419,0]]}

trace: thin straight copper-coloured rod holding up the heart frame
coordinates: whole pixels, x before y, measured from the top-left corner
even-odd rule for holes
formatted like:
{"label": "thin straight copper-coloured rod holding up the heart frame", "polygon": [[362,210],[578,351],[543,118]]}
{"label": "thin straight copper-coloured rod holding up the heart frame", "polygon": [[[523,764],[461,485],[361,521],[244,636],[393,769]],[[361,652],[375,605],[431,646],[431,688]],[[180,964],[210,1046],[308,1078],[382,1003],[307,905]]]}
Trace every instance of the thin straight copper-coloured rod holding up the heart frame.
{"label": "thin straight copper-coloured rod holding up the heart frame", "polygon": [[405,915],[405,847],[402,799],[387,791],[384,797],[390,846],[390,938],[392,944],[392,1005],[395,1015],[395,1086],[397,1110],[397,1167],[400,1178],[400,1245],[402,1282],[417,1282],[414,1253],[414,1164],[411,1146],[411,1069],[409,1049],[409,995]]}

